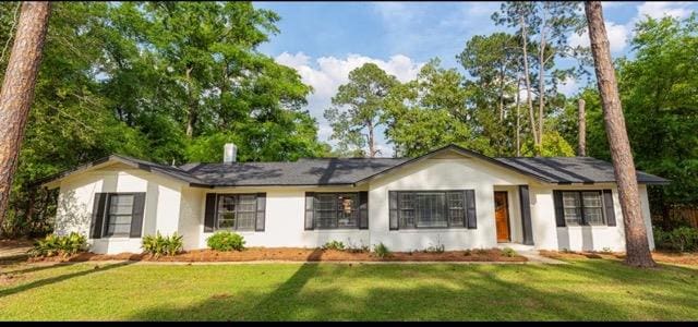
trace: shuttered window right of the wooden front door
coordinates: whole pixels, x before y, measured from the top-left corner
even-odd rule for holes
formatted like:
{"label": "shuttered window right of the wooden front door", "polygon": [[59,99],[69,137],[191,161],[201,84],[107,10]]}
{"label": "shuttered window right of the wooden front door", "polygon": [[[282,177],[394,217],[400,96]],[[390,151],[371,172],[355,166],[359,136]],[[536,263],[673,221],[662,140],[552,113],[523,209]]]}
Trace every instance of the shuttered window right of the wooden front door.
{"label": "shuttered window right of the wooden front door", "polygon": [[563,191],[566,225],[605,225],[601,191]]}

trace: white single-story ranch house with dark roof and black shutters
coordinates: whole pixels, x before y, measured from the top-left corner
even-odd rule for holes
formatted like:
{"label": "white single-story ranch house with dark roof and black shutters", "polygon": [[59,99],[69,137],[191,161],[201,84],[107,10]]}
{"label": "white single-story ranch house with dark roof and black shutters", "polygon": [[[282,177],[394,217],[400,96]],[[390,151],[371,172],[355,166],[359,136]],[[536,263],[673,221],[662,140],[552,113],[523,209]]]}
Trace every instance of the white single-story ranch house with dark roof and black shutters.
{"label": "white single-story ranch house with dark roof and black shutters", "polygon": [[[140,253],[156,231],[205,249],[224,229],[266,247],[625,250],[613,167],[590,157],[491,158],[449,145],[418,158],[236,162],[227,145],[226,158],[170,167],[112,155],[43,185],[60,187],[57,233],[88,235],[95,253]],[[667,180],[637,179],[653,249],[647,185]]]}

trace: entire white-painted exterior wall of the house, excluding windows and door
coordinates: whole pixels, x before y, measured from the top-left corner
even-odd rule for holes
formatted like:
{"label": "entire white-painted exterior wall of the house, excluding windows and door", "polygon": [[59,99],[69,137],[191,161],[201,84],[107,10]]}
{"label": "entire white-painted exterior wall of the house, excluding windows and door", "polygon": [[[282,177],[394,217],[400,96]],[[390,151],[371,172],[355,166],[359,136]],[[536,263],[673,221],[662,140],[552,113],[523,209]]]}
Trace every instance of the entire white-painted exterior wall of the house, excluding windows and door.
{"label": "entire white-painted exterior wall of the house, excluding windows and door", "polygon": [[[356,246],[384,243],[390,251],[424,250],[444,245],[446,250],[489,249],[497,245],[494,218],[494,191],[506,191],[512,242],[524,239],[518,185],[529,185],[532,234],[535,249],[625,251],[623,215],[614,184],[543,184],[493,164],[462,156],[442,155],[396,169],[356,187],[191,187],[169,178],[115,164],[76,173],[60,182],[56,220],[57,233],[77,231],[89,234],[95,193],[146,192],[143,235],[182,234],[184,250],[205,249],[206,193],[266,193],[264,231],[240,231],[246,246],[317,247],[328,241]],[[616,226],[564,227],[555,225],[553,190],[613,191]],[[476,190],[478,228],[390,231],[388,191]],[[305,192],[369,192],[369,229],[304,230]],[[653,249],[647,187],[640,185],[642,215]],[[89,239],[95,253],[140,253],[141,238]]]}

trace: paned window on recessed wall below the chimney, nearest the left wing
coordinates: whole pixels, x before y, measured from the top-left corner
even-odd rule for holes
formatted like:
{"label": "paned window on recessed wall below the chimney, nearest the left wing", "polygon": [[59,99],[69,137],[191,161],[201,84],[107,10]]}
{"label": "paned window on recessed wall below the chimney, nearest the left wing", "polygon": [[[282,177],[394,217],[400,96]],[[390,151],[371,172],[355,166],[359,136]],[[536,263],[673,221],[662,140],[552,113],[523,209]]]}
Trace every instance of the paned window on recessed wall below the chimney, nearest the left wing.
{"label": "paned window on recessed wall below the chimney, nearest the left wing", "polygon": [[256,194],[219,194],[216,229],[254,230]]}

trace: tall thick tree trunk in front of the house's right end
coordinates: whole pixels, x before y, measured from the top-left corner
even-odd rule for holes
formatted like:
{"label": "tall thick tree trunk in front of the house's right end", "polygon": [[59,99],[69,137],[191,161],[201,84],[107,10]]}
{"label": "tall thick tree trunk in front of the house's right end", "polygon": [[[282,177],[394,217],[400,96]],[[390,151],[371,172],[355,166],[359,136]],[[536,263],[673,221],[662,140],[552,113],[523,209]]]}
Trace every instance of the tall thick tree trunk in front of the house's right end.
{"label": "tall thick tree trunk in front of the house's right end", "polygon": [[600,1],[585,2],[585,12],[589,26],[591,53],[597,72],[597,83],[603,107],[603,120],[611,147],[613,170],[618,185],[618,198],[623,209],[625,226],[626,264],[636,267],[652,267],[654,261],[650,253],[647,230],[640,210],[640,196],[637,187],[633,153],[625,130],[625,119],[621,107],[609,38]]}

